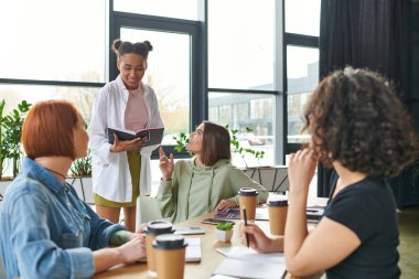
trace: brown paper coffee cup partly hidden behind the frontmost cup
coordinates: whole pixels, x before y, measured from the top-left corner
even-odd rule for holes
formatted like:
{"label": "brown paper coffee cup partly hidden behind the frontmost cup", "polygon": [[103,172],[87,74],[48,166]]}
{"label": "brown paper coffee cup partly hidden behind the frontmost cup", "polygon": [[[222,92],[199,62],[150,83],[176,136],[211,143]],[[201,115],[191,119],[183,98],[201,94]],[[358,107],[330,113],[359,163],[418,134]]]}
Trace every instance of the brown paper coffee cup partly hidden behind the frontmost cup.
{"label": "brown paper coffee cup partly hidden behind the frontmost cup", "polygon": [[173,225],[166,221],[151,221],[147,223],[146,233],[146,248],[147,248],[147,266],[149,268],[149,276],[157,277],[155,271],[155,257],[152,246],[153,240],[158,235],[172,234],[174,232]]}

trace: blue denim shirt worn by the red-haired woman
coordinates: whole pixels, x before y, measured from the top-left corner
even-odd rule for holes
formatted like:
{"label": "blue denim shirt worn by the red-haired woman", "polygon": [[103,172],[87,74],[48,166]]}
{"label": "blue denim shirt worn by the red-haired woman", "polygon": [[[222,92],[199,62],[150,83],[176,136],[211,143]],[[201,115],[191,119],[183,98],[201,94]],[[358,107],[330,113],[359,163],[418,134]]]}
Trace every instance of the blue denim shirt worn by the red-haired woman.
{"label": "blue denim shirt worn by the red-haired woman", "polygon": [[0,207],[7,278],[89,278],[93,251],[123,226],[100,218],[66,182],[25,158]]}

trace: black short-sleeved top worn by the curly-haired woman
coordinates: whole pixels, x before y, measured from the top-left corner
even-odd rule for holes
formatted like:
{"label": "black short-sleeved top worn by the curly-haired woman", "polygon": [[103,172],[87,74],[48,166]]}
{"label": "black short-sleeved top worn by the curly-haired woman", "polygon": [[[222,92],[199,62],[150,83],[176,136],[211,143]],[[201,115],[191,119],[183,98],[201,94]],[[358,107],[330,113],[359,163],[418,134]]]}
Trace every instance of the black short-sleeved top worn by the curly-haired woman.
{"label": "black short-sleeved top worn by the curly-haired woman", "polygon": [[361,240],[352,255],[326,270],[327,279],[399,278],[396,202],[384,179],[366,178],[343,189],[330,200],[324,216],[343,224]]}

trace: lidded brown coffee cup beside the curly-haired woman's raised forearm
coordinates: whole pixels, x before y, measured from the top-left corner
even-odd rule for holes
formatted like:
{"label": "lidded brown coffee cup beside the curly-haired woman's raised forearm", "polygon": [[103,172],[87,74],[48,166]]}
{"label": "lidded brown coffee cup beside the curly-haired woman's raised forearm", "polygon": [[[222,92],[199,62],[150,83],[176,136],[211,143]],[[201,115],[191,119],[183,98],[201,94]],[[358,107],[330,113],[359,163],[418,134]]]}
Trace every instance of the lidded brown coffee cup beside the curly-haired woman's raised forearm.
{"label": "lidded brown coffee cup beside the curly-haired woman's raised forearm", "polygon": [[273,237],[283,235],[286,230],[288,200],[278,198],[268,201],[269,228]]}

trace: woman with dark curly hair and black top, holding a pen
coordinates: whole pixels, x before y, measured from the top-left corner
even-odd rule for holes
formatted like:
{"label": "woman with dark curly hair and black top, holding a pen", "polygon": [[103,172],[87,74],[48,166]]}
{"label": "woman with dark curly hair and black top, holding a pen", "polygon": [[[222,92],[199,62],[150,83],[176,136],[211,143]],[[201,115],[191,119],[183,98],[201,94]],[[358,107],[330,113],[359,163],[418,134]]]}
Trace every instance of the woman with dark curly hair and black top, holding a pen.
{"label": "woman with dark curly hair and black top, holding a pen", "polygon": [[[346,67],[325,77],[305,106],[312,147],[290,155],[284,238],[247,226],[259,251],[284,250],[294,276],[398,278],[396,203],[385,178],[416,158],[411,121],[378,74]],[[318,159],[339,175],[323,218],[307,229],[307,198]]]}

